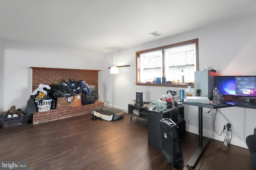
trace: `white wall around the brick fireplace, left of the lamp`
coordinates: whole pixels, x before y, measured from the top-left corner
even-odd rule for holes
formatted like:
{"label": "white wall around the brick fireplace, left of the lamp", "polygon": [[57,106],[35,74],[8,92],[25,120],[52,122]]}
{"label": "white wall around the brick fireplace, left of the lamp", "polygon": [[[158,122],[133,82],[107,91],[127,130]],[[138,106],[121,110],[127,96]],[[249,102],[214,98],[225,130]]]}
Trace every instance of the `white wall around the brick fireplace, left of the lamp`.
{"label": "white wall around the brick fireplace, left of the lamp", "polygon": [[[12,105],[16,106],[16,109],[25,110],[32,93],[30,67],[88,70],[103,68],[102,54],[7,40],[0,40],[0,61],[0,111],[7,111]],[[99,95],[104,100],[102,71],[98,75]]]}

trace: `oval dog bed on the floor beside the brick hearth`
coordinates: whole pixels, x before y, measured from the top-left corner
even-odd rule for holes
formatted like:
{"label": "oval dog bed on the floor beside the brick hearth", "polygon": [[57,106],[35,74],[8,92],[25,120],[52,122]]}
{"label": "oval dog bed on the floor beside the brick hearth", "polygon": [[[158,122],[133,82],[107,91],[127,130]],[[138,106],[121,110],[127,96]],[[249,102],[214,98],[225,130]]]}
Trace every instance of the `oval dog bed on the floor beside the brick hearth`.
{"label": "oval dog bed on the floor beside the brick hearth", "polygon": [[124,111],[105,106],[93,108],[90,114],[106,121],[117,120],[124,117]]}

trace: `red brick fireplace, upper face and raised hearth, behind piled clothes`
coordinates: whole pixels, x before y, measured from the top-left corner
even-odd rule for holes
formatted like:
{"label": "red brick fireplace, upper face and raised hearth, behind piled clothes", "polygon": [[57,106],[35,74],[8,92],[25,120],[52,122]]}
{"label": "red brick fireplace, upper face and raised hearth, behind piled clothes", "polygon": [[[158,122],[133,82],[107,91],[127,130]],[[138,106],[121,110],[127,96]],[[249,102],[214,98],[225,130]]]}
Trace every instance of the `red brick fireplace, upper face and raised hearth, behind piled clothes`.
{"label": "red brick fireplace, upper face and raised hearth, behind piled clothes", "polygon": [[[100,71],[42,67],[30,68],[32,68],[32,91],[38,88],[39,84],[53,87],[54,82],[63,82],[66,79],[84,80],[88,85],[95,84],[98,82],[98,72]],[[90,113],[92,108],[100,106],[104,106],[104,103],[96,101],[94,104],[74,108],[50,109],[49,111],[36,112],[33,114],[33,124]]]}

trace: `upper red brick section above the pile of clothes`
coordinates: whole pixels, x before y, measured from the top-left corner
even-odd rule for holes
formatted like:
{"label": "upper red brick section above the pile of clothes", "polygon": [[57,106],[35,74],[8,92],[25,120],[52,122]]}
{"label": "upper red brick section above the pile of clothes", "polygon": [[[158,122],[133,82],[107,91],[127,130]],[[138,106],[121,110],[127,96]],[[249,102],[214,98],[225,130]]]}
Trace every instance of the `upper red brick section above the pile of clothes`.
{"label": "upper red brick section above the pile of clothes", "polygon": [[38,88],[39,84],[53,87],[54,82],[63,82],[66,79],[84,80],[88,85],[98,82],[100,70],[79,70],[65,68],[32,68],[32,91]]}

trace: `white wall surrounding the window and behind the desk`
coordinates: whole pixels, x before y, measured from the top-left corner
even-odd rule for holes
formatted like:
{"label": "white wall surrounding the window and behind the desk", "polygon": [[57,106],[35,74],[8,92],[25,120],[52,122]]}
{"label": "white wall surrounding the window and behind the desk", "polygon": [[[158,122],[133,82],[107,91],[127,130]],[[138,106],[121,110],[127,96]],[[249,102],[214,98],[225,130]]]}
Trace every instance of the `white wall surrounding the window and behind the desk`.
{"label": "white wall surrounding the window and behind the desk", "polygon": [[[242,18],[219,25],[193,30],[180,35],[160,39],[158,41],[122,49],[104,55],[104,96],[105,106],[109,106],[112,99],[112,74],[108,67],[112,65],[128,65],[130,67],[120,68],[120,74],[114,76],[114,105],[116,108],[128,111],[128,104],[135,98],[136,92],[143,92],[144,100],[159,100],[166,90],[178,92],[180,88],[136,86],[136,51],[169,45],[190,39],[198,38],[199,41],[199,68],[210,66],[217,70],[218,75],[256,75],[255,54],[256,54],[256,16]],[[171,29],[171,28],[170,28]],[[111,106],[111,105],[110,105]],[[207,114],[209,109],[204,108],[203,135],[219,141],[224,141],[223,136],[214,133],[214,116]],[[248,108],[222,108],[220,111],[232,125],[231,144],[246,147],[245,137],[253,133],[256,127],[256,110]],[[215,110],[210,114],[214,114]],[[198,134],[198,107],[185,106],[185,120],[187,131]],[[219,134],[224,123],[227,121],[217,112],[214,122],[215,131]]]}

